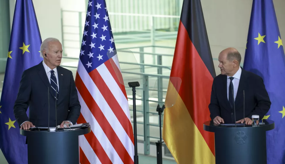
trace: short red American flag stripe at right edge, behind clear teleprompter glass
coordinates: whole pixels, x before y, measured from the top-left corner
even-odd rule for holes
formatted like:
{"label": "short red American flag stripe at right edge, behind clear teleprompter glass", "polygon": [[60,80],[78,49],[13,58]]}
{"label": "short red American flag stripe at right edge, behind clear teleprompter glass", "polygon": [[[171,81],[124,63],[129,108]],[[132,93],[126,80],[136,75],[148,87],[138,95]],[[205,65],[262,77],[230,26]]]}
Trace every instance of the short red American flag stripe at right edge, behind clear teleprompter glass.
{"label": "short red American flag stripe at right edge, behind clear teleprompter glass", "polygon": [[106,65],[107,69],[109,70],[109,72],[111,73],[111,75],[113,76],[115,81],[117,82],[118,86],[121,88],[126,99],[128,99],[122,73],[119,70],[119,68],[117,67],[117,65],[115,64],[114,60],[112,58],[110,58],[104,64]]}

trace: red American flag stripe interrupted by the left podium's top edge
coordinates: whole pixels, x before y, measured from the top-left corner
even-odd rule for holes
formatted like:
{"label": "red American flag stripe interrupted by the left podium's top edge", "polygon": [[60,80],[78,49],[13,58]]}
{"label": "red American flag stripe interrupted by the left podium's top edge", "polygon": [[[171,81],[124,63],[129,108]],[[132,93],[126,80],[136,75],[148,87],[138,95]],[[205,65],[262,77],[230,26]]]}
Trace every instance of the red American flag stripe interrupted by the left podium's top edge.
{"label": "red American flag stripe interrupted by the left podium's top edge", "polygon": [[[86,109],[86,110],[89,110],[89,109]],[[77,120],[77,124],[82,124],[82,123],[86,123],[86,121],[84,117],[82,116],[82,114],[80,114]],[[104,148],[101,146],[97,137],[93,133],[93,131],[85,134],[84,136],[86,140],[88,141],[89,145],[91,146],[91,148],[93,149],[93,151],[95,152],[95,154],[97,155],[97,157],[99,158],[99,160],[101,161],[101,163],[112,163],[110,158],[106,154]]]}

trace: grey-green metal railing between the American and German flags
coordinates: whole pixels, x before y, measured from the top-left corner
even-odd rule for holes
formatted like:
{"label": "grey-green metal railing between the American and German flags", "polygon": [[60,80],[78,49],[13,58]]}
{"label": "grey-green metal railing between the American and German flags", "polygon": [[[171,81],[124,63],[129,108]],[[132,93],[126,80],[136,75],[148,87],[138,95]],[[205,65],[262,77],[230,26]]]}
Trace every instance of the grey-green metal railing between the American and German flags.
{"label": "grey-green metal railing between the American and German flags", "polygon": [[[133,51],[134,54],[139,54],[140,55],[140,61],[138,63],[135,63],[135,62],[124,62],[124,61],[120,61],[119,63],[120,64],[126,64],[126,65],[138,65],[140,66],[141,68],[141,71],[142,72],[129,72],[129,71],[126,71],[126,70],[122,70],[122,74],[127,74],[127,75],[140,75],[142,77],[142,81],[143,81],[143,84],[141,85],[141,87],[137,87],[137,90],[140,91],[141,93],[141,98],[136,98],[137,101],[141,101],[142,102],[142,110],[137,110],[137,115],[138,117],[141,116],[141,114],[143,114],[143,121],[137,121],[137,124],[142,124],[143,125],[143,135],[140,135],[138,134],[137,136],[141,136],[143,137],[143,142],[144,143],[144,154],[145,155],[149,155],[150,154],[150,145],[151,145],[151,142],[150,142],[150,138],[153,138],[153,139],[159,139],[158,136],[153,136],[151,133],[150,133],[150,128],[151,127],[159,127],[159,121],[157,121],[157,123],[150,123],[150,116],[157,116],[158,117],[158,113],[155,112],[154,110],[155,109],[152,109],[150,107],[150,102],[152,103],[157,103],[157,104],[164,104],[163,102],[163,99],[165,99],[165,96],[163,96],[164,94],[163,93],[166,93],[166,88],[163,87],[163,83],[162,83],[162,80],[165,79],[165,80],[169,80],[169,76],[165,76],[165,75],[162,75],[162,69],[167,69],[167,70],[171,70],[171,66],[165,66],[165,65],[162,65],[162,56],[172,56],[173,57],[173,54],[159,54],[159,53],[147,53],[147,52],[144,52],[144,48],[149,48],[149,47],[152,47],[151,45],[150,46],[139,46],[139,47],[129,47],[129,48],[124,48],[124,49],[117,49],[117,52],[129,52],[127,51],[126,49],[136,49],[138,48],[139,51]],[[173,49],[174,47],[167,47],[167,46],[157,46],[159,48],[170,48],[170,49]],[[157,56],[157,63],[156,65],[152,65],[152,64],[145,64],[144,63],[144,55],[147,54],[147,55],[154,55],[154,56]],[[72,57],[63,57],[63,60],[64,59],[73,59],[73,60],[78,60],[78,58],[72,58]],[[77,69],[77,66],[68,66],[68,65],[61,65],[62,67],[70,67],[70,68],[76,68]],[[157,68],[157,74],[149,74],[149,73],[146,73],[145,72],[145,67],[154,67],[154,68]],[[156,83],[157,83],[157,89],[152,89],[150,88],[150,86],[153,86],[152,84],[150,84],[150,78],[154,78],[152,80],[155,80]],[[156,80],[157,79],[157,80]],[[167,83],[168,84],[168,83]],[[126,91],[127,92],[131,92],[131,88],[129,87],[125,87]],[[138,92],[139,92],[138,91]],[[154,95],[150,95],[150,92],[157,92],[157,95],[154,96]],[[157,100],[151,100],[150,98],[153,98],[153,97],[150,97],[150,96],[153,96],[153,97],[157,97]],[[128,100],[132,100],[133,97],[128,97]],[[130,105],[130,111],[133,112],[132,110],[132,105]],[[152,111],[150,111],[150,109],[152,109]],[[140,114],[141,113],[141,114]],[[132,121],[133,123],[133,121]],[[162,123],[163,123],[163,114],[162,114]],[[154,144],[154,143],[152,143]]]}

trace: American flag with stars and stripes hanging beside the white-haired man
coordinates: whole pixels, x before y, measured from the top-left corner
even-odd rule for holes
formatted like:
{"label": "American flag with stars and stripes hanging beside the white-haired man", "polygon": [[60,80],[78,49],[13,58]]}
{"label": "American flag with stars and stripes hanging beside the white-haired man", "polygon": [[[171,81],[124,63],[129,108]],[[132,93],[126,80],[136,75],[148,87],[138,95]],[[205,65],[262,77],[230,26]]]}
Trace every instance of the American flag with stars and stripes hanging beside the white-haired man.
{"label": "American flag with stars and stripes hanging beside the white-haired man", "polygon": [[[105,0],[90,0],[75,84],[81,104],[77,124],[80,163],[134,163],[134,136],[125,86]],[[119,72],[119,73],[118,73]]]}

